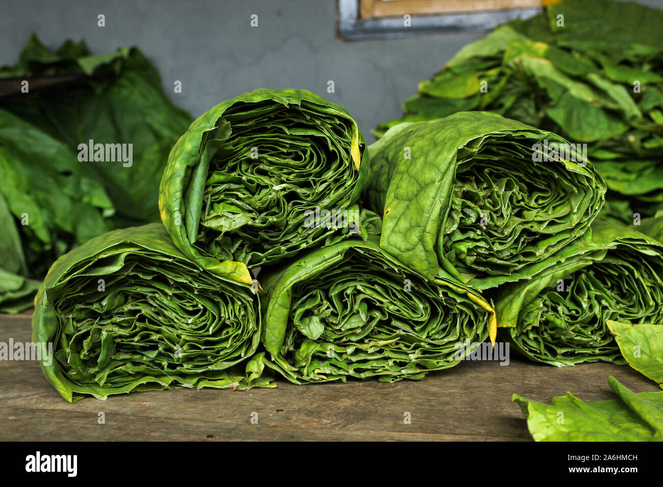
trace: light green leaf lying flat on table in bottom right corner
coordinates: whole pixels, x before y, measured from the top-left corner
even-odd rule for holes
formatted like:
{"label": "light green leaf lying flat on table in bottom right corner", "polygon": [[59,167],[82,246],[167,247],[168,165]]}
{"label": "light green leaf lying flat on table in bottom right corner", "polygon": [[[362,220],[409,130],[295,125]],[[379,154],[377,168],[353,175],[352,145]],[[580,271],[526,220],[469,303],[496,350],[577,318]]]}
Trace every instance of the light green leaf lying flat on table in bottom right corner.
{"label": "light green leaf lying flat on table in bottom right corner", "polygon": [[535,441],[662,441],[663,391],[634,393],[613,376],[618,399],[583,402],[570,392],[544,404],[513,395]]}

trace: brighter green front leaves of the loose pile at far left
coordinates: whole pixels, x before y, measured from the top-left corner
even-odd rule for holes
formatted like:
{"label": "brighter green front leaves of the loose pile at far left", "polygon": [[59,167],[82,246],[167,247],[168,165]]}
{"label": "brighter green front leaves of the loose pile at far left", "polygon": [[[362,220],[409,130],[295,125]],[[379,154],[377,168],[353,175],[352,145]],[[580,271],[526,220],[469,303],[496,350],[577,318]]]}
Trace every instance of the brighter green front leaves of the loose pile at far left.
{"label": "brighter green front leaves of the loose pile at far left", "polygon": [[[30,307],[48,266],[112,228],[113,203],[66,145],[0,109],[0,311]],[[9,276],[12,276],[9,278]]]}

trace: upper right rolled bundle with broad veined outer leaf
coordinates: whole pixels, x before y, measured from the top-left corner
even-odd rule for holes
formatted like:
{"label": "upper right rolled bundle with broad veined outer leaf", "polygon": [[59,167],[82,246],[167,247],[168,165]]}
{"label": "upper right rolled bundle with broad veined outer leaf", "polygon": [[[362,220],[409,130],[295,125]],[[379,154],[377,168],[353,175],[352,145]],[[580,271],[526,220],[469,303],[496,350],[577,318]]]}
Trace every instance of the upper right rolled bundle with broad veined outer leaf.
{"label": "upper right rolled bundle with broad veined outer leaf", "polygon": [[603,204],[605,184],[573,144],[495,113],[402,123],[369,151],[380,246],[428,279],[444,270],[487,289],[530,278]]}

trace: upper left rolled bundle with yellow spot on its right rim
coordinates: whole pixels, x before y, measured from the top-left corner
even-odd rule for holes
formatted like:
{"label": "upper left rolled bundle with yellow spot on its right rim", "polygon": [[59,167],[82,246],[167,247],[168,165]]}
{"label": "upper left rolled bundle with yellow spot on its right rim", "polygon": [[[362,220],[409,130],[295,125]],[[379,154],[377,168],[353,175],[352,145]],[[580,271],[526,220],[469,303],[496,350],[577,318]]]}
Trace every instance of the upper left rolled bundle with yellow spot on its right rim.
{"label": "upper left rolled bundle with yellow spot on its right rim", "polygon": [[273,264],[357,230],[368,165],[345,109],[296,89],[257,89],[217,105],[174,146],[159,206],[172,240],[213,272]]}

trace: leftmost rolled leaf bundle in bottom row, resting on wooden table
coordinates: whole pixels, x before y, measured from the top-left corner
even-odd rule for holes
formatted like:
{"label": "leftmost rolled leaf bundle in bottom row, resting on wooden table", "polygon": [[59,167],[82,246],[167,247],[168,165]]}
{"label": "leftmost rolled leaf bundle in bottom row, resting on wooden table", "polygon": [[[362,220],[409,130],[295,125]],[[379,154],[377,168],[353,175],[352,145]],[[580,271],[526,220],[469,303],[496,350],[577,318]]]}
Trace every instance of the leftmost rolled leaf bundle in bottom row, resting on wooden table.
{"label": "leftmost rolled leaf bundle in bottom row, resting on wooden table", "polygon": [[100,235],[59,258],[35,308],[42,370],[68,402],[269,385],[263,354],[253,356],[261,316],[251,288],[199,270],[160,223]]}

